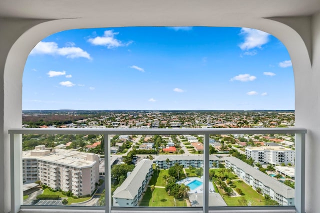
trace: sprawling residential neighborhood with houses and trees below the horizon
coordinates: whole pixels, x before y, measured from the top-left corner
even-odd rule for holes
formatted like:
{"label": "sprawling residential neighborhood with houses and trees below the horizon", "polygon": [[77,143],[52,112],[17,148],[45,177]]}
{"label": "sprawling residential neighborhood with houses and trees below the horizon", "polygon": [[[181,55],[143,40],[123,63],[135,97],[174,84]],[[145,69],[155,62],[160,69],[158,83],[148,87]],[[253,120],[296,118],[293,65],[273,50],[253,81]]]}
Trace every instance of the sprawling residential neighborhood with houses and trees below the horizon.
{"label": "sprawling residential neighborhood with houses and trees below the horizon", "polygon": [[[90,116],[83,114],[80,120],[63,123],[61,119],[54,124],[49,120],[31,122],[43,114],[25,112],[23,125],[25,128],[38,125],[39,128],[142,129],[294,126],[293,111],[110,111],[99,112],[96,116],[92,112]],[[75,112],[58,112],[53,116],[67,118],[68,122],[77,117]],[[39,183],[43,194],[47,192],[46,188],[67,193],[74,197],[68,205],[81,201],[84,206],[103,206],[105,201],[100,185],[105,174],[105,144],[102,135],[25,134],[22,139],[25,185]],[[291,134],[210,135],[209,204],[220,207],[294,205],[294,139]],[[203,195],[203,141],[203,135],[110,135],[113,206],[199,206]],[[56,156],[61,156],[59,162],[54,162]],[[82,156],[82,160],[74,156]],[[70,160],[74,158],[79,160],[72,163]],[[93,170],[85,169],[94,173],[89,191],[84,191],[87,178],[83,177],[87,174],[82,171],[89,168],[86,164],[95,165]],[[57,167],[62,169],[58,171]],[[76,170],[78,177],[64,175],[69,168]],[[83,195],[92,197],[83,198]],[[159,203],[157,199],[165,202]],[[25,204],[32,202],[35,203],[34,200],[25,200]]]}

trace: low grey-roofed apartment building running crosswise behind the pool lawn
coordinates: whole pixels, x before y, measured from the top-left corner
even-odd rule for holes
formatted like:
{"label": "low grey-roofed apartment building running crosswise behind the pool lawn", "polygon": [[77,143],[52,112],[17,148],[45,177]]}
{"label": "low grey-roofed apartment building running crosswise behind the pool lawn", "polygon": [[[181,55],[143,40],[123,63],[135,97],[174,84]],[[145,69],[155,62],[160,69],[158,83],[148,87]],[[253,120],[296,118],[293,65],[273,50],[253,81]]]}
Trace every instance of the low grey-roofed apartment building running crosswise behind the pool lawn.
{"label": "low grey-roofed apartment building running crosswise behind the pool lawn", "polygon": [[[167,162],[167,159],[169,160]],[[189,166],[195,168],[203,167],[203,155],[160,155],[155,159],[155,164],[158,165],[159,169],[169,169],[174,164],[182,165],[184,168]],[[219,161],[215,155],[209,156],[209,168],[218,168]]]}

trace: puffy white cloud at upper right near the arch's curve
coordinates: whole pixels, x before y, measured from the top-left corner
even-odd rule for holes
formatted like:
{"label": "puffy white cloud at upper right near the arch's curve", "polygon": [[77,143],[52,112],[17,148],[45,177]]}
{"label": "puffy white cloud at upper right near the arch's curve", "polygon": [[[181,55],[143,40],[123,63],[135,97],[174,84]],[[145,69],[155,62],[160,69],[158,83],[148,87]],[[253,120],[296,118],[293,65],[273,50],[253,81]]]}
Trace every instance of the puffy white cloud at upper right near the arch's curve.
{"label": "puffy white cloud at upper right near the arch's curve", "polygon": [[241,28],[241,35],[244,35],[244,42],[239,44],[242,50],[249,50],[253,48],[261,48],[269,39],[269,34],[257,29]]}

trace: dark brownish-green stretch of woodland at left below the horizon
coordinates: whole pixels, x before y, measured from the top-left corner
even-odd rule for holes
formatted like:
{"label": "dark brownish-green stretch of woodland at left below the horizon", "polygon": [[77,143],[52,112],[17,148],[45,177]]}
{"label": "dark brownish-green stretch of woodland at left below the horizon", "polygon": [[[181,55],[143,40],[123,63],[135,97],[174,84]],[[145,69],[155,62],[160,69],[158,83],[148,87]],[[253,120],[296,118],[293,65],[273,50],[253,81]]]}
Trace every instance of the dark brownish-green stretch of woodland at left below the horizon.
{"label": "dark brownish-green stretch of woodland at left below the horizon", "polygon": [[22,116],[22,124],[28,127],[38,127],[42,125],[63,125],[70,124],[77,120],[88,118],[88,115],[27,115]]}

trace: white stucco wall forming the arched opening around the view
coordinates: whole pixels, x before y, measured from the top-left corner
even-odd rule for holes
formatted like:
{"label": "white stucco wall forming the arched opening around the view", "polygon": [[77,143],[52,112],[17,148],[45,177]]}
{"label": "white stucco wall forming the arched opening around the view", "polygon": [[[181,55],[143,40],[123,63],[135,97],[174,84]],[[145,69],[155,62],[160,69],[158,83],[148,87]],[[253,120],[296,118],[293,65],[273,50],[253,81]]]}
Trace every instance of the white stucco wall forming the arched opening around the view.
{"label": "white stucco wall forming the arched opening around the view", "polygon": [[[195,14],[196,15],[196,14]],[[201,16],[200,12],[198,15]],[[182,17],[182,16],[181,16]],[[187,25],[245,26],[264,30],[276,36],[287,47],[295,78],[295,120],[297,127],[308,130],[306,138],[306,212],[320,209],[317,192],[320,180],[317,162],[320,160],[320,13],[313,17],[270,19],[203,18],[176,16],[167,22],[155,17],[135,19],[61,19],[27,20],[0,19],[0,212],[10,211],[9,128],[21,127],[22,71],[32,47],[45,36],[69,28],[126,26],[126,25]],[[200,18],[199,18],[200,20]],[[274,20],[280,20],[286,24]],[[45,22],[47,21],[47,22]],[[45,23],[41,23],[45,22]],[[308,47],[308,48],[307,48]],[[312,67],[310,65],[310,57]]]}

